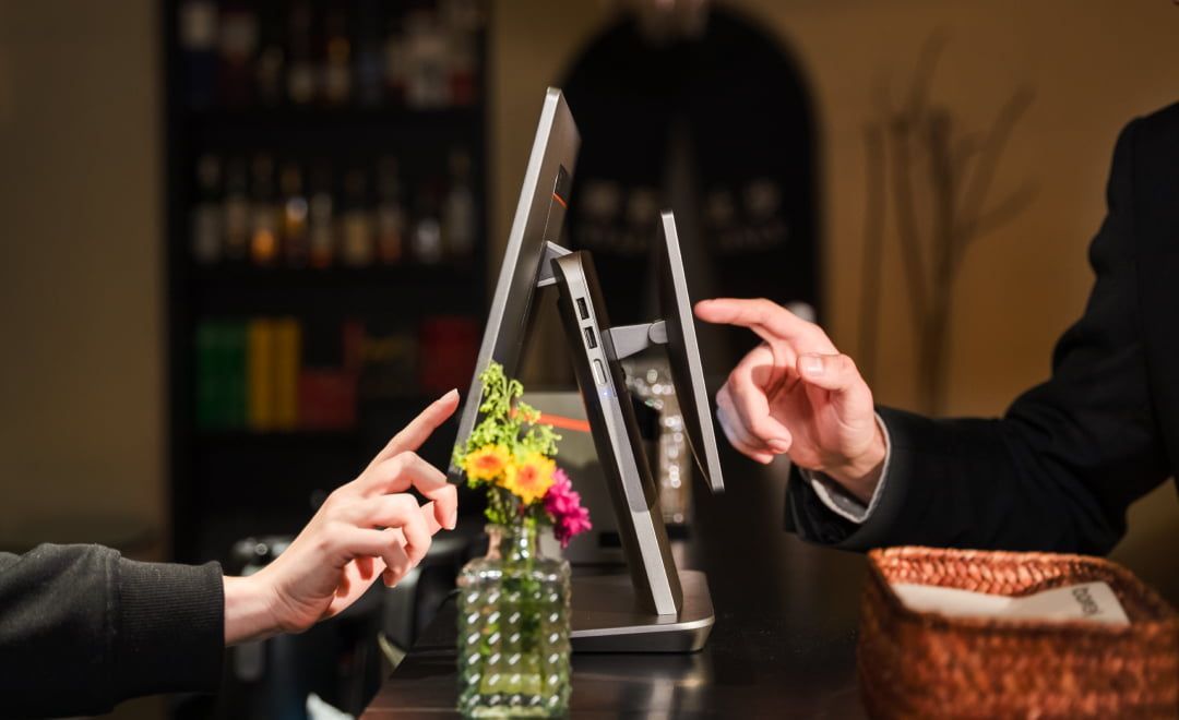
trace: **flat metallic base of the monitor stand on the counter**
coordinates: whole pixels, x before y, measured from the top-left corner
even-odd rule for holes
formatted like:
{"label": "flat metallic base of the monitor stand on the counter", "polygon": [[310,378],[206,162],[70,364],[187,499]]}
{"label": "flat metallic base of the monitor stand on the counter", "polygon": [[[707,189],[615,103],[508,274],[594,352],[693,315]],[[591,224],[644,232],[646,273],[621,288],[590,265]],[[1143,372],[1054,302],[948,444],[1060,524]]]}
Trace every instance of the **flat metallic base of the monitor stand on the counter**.
{"label": "flat metallic base of the monitor stand on the counter", "polygon": [[573,579],[574,653],[694,653],[712,632],[712,596],[699,570],[680,570],[684,605],[678,615],[635,607],[630,575]]}

